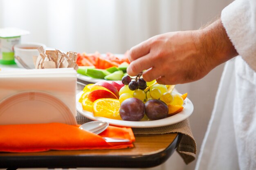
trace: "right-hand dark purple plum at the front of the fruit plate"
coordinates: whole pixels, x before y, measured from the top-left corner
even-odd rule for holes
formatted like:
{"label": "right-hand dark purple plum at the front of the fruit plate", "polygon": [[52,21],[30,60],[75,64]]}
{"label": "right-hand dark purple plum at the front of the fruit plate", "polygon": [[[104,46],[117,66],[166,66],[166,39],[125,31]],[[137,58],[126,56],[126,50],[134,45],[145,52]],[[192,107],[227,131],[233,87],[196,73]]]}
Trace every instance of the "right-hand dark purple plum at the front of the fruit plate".
{"label": "right-hand dark purple plum at the front of the fruit plate", "polygon": [[168,116],[168,106],[158,99],[148,100],[145,103],[146,115],[151,120],[163,119]]}

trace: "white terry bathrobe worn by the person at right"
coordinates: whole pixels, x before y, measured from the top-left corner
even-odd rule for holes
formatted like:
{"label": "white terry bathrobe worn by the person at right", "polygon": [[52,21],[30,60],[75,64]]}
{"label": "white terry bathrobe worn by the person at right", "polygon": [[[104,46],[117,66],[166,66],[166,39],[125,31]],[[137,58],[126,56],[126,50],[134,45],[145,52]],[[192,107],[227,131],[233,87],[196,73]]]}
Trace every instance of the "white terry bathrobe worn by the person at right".
{"label": "white terry bathrobe worn by the person at right", "polygon": [[240,56],[225,65],[195,169],[256,170],[256,0],[235,0],[221,20]]}

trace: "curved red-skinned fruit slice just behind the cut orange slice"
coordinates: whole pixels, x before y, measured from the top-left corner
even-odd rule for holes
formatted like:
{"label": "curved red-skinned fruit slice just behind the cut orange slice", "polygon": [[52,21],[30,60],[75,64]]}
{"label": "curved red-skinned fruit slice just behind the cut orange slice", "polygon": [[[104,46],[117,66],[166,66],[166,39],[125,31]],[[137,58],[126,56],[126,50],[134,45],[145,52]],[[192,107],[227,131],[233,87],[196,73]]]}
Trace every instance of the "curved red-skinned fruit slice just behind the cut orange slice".
{"label": "curved red-skinned fruit slice just behind the cut orange slice", "polygon": [[118,99],[112,92],[103,89],[91,91],[87,97],[91,102],[102,98]]}

